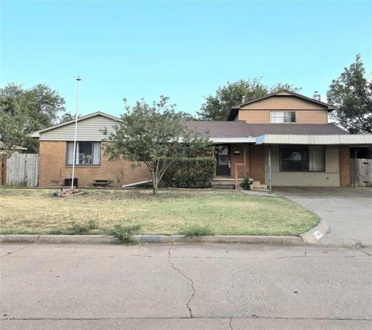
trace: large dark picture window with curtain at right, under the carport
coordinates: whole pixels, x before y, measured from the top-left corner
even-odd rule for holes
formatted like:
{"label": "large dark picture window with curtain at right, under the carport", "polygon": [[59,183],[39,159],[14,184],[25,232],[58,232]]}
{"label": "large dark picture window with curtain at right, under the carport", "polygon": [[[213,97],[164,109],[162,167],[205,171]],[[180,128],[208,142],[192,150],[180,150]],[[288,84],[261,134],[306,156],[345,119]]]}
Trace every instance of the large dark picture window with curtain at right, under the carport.
{"label": "large dark picture window with curtain at right, under the carport", "polygon": [[325,171],[324,145],[282,145],[280,146],[280,170]]}

